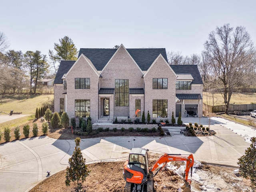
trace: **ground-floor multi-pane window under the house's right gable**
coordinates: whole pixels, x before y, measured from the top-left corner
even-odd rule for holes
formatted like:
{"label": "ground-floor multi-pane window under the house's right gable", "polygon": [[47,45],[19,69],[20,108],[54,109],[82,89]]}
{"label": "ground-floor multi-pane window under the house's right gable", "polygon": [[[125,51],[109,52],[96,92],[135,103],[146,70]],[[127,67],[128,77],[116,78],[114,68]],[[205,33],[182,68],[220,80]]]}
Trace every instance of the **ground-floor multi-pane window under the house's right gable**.
{"label": "ground-floor multi-pane window under the house's right gable", "polygon": [[156,99],[153,100],[153,118],[167,118],[168,114],[168,103],[167,99]]}

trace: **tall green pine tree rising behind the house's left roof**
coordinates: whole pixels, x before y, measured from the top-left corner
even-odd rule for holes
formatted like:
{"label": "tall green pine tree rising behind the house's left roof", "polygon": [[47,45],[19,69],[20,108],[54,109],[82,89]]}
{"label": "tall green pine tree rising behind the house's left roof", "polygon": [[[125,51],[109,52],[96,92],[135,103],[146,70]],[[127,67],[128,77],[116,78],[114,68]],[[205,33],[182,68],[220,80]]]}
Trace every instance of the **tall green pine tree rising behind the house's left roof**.
{"label": "tall green pine tree rising behind the house's left roof", "polygon": [[76,60],[78,51],[72,39],[70,39],[68,36],[64,36],[63,38],[59,39],[59,41],[60,44],[54,43],[54,50],[57,52],[56,57],[58,60]]}

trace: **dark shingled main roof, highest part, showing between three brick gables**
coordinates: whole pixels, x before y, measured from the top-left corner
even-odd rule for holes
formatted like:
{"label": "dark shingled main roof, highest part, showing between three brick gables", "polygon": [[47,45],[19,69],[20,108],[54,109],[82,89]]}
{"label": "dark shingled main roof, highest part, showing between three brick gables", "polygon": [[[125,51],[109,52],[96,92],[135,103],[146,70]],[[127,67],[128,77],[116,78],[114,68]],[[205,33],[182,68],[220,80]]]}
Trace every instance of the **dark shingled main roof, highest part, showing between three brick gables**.
{"label": "dark shingled main roof, highest part, showing between three brick gables", "polygon": [[[117,49],[80,49],[78,57],[84,54],[90,59],[98,71],[101,71],[111,57],[116,53]],[[142,71],[147,71],[150,65],[162,54],[164,59],[168,61],[165,48],[160,49],[126,49],[138,64]]]}

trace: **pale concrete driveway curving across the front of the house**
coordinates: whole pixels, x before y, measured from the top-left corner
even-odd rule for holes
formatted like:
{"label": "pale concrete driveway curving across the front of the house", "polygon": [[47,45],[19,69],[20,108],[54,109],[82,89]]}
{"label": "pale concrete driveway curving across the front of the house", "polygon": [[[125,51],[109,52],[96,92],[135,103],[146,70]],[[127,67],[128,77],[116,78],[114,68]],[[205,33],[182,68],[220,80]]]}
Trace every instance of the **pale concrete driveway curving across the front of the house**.
{"label": "pale concrete driveway curving across the front of the house", "polygon": [[[208,125],[208,118],[183,118],[182,121]],[[131,148],[142,147],[152,153],[193,153],[198,161],[237,166],[238,158],[244,155],[250,143],[242,134],[228,128],[228,121],[214,119],[210,124],[210,129],[217,133],[215,136],[102,137],[82,139],[80,149],[87,163],[124,161]],[[46,178],[48,170],[51,174],[64,170],[74,147],[74,140],[56,140],[47,136],[0,145],[0,192],[29,191]]]}

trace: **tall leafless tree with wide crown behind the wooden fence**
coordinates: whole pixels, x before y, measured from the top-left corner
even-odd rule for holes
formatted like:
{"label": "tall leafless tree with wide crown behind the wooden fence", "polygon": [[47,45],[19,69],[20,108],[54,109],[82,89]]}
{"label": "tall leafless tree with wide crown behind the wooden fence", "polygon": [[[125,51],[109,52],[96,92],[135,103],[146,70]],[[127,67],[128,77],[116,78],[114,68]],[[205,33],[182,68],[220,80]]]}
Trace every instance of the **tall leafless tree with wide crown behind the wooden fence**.
{"label": "tall leafless tree with wide crown behind the wooden fence", "polygon": [[224,24],[209,34],[204,48],[211,67],[222,82],[225,113],[228,114],[230,98],[243,84],[244,69],[252,67],[255,54],[253,42],[245,27],[234,29]]}

